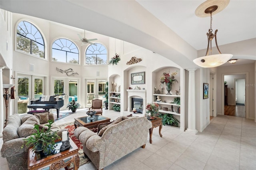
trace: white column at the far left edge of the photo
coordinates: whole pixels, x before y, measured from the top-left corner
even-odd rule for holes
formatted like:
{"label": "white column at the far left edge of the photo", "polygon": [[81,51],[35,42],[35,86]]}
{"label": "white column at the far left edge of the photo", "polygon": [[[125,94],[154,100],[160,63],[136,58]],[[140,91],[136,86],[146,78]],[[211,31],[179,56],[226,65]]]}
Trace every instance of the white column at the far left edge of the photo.
{"label": "white column at the far left edge of the photo", "polygon": [[4,98],[3,98],[3,71],[4,66],[0,66],[0,137],[3,137],[4,130]]}

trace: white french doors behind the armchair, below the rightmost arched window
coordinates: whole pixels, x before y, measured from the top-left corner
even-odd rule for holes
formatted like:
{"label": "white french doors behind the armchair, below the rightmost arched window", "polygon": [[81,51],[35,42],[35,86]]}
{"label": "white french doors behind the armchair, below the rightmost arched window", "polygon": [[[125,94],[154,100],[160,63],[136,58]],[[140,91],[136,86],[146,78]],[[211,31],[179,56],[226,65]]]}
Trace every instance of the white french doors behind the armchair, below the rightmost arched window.
{"label": "white french doors behind the armchair, below the rightmost arched window", "polygon": [[105,98],[105,88],[106,88],[107,79],[86,79],[85,80],[85,107],[92,106],[93,99],[101,99],[102,106]]}

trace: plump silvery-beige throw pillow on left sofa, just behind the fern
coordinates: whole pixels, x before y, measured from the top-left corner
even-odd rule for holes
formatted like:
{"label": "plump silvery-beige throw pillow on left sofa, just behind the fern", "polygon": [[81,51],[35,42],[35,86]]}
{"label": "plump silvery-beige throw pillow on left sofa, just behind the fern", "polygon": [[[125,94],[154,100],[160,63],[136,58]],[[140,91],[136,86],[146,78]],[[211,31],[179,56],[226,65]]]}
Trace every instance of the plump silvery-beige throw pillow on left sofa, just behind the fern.
{"label": "plump silvery-beige throw pillow on left sofa, just behind the fern", "polygon": [[34,125],[39,125],[40,121],[38,116],[29,117],[18,129],[18,135],[20,138],[30,136],[33,133],[36,133]]}

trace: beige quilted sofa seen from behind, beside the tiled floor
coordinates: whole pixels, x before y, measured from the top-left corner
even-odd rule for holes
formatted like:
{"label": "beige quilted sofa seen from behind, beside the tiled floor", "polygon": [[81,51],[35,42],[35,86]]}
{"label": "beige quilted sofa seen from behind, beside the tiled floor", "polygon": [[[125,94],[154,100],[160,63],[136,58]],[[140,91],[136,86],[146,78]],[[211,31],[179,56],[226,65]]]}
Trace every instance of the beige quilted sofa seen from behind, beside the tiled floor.
{"label": "beige quilted sofa seen from behind, beside the tiled floor", "polygon": [[123,116],[99,129],[98,134],[86,127],[78,127],[74,135],[82,142],[84,153],[96,168],[103,170],[137,148],[145,148],[151,127],[152,123],[146,117]]}

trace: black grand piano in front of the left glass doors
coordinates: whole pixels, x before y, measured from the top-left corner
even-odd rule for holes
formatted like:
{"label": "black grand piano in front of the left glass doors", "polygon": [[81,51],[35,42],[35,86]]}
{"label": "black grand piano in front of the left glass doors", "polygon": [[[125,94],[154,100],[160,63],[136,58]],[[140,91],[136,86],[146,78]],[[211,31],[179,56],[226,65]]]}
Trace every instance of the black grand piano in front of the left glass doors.
{"label": "black grand piano in front of the left glass doors", "polygon": [[[65,94],[62,94],[65,95]],[[60,95],[54,95],[50,96],[49,101],[41,101],[40,97],[38,100],[31,100],[30,105],[28,105],[28,108],[32,108],[33,110],[36,109],[44,109],[44,110],[49,110],[49,109],[56,109],[57,110],[57,119],[59,118],[59,113],[60,113],[60,108],[64,106],[64,101],[62,98],[59,98],[58,101],[56,101],[56,97]]]}

